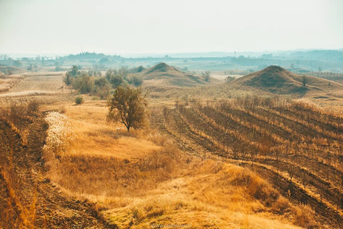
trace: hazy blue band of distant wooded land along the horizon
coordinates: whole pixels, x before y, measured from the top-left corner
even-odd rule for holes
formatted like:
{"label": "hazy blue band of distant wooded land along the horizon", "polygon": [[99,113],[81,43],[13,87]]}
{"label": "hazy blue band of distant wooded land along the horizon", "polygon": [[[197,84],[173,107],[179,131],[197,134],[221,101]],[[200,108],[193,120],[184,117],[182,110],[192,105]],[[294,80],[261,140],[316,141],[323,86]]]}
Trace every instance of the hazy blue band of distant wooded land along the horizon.
{"label": "hazy blue band of distant wooded land along the horizon", "polygon": [[[29,66],[30,64],[42,66],[56,66],[56,70],[62,70],[63,63],[76,64],[75,62],[87,62],[91,64],[99,64],[104,66],[111,66],[116,63],[125,62],[170,62],[180,61],[181,63],[191,62],[212,62],[211,66],[206,65],[212,69],[235,68],[237,66],[249,66],[253,70],[260,70],[269,65],[279,65],[289,69],[303,69],[303,70],[325,70],[339,72],[343,69],[343,51],[338,50],[314,50],[307,52],[293,52],[289,54],[280,54],[274,56],[273,54],[263,54],[259,57],[251,56],[226,56],[226,57],[193,57],[193,58],[175,58],[165,55],[164,57],[141,57],[141,58],[125,58],[120,55],[105,55],[103,53],[89,53],[83,52],[79,54],[70,54],[66,56],[37,56],[37,57],[22,57],[13,59],[7,55],[0,55],[0,66]],[[26,62],[26,63],[24,63]],[[71,62],[71,63],[70,63]],[[78,63],[77,63],[78,64]],[[219,66],[220,65],[220,66]],[[29,70],[29,69],[28,69]],[[319,70],[319,71],[321,71]]]}

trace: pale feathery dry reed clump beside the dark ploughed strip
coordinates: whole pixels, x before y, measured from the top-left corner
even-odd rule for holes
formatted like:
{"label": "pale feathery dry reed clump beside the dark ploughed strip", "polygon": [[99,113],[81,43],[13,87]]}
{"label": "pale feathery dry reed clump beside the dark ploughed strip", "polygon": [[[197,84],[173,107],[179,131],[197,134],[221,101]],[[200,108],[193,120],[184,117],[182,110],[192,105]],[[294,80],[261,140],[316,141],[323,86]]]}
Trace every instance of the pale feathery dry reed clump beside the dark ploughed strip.
{"label": "pale feathery dry reed clump beside the dark ploughed strip", "polygon": [[47,113],[45,121],[49,128],[43,149],[54,154],[65,151],[68,144],[73,141],[69,118],[53,111]]}

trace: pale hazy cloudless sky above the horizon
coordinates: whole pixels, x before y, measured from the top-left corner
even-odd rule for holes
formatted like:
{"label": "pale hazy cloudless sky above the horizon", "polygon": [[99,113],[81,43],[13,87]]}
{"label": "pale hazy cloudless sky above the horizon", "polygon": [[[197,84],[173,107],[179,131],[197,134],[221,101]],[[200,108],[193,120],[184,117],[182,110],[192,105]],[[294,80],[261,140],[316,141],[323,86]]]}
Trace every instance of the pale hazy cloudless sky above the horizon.
{"label": "pale hazy cloudless sky above the horizon", "polygon": [[342,0],[0,0],[0,53],[343,48]]}

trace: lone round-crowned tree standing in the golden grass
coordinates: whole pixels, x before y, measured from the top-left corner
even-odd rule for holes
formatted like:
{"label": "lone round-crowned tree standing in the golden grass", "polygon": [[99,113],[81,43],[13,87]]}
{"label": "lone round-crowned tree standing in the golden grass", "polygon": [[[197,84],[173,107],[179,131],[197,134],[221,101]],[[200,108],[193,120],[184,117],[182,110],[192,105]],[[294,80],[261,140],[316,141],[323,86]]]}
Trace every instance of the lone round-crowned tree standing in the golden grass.
{"label": "lone round-crowned tree standing in the golden grass", "polygon": [[117,87],[112,97],[107,100],[109,122],[120,122],[128,130],[140,129],[147,123],[147,93],[143,95],[142,87]]}

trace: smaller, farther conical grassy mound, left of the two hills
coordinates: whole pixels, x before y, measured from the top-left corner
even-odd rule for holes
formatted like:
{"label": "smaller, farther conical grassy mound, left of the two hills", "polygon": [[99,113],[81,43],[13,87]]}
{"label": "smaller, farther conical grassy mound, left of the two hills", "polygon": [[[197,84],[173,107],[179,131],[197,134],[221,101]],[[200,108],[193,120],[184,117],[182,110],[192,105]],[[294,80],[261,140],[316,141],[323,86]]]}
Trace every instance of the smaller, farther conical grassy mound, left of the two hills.
{"label": "smaller, farther conical grassy mound, left of the two hills", "polygon": [[166,63],[159,63],[138,74],[141,75],[144,80],[163,80],[166,84],[174,86],[190,87],[205,83],[201,77],[182,72]]}

